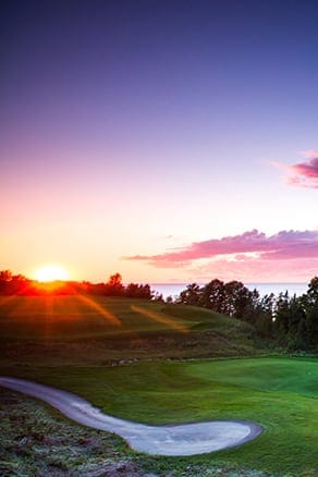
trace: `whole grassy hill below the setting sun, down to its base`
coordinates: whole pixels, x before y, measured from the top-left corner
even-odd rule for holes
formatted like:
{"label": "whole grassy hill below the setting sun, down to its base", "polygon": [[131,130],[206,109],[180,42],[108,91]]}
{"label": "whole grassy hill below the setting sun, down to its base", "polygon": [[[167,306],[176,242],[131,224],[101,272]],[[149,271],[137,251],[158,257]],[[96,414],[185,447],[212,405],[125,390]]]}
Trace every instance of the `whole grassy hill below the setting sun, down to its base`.
{"label": "whole grassy hill below the setting sun, down to its base", "polygon": [[187,305],[101,296],[0,297],[0,363],[106,365],[258,353],[253,327]]}

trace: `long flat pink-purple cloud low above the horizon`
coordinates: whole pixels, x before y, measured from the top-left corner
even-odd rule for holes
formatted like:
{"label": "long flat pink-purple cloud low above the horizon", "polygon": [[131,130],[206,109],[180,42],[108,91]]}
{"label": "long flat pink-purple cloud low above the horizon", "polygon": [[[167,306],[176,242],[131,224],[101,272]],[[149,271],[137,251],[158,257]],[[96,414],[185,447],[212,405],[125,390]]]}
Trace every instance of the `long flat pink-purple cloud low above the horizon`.
{"label": "long flat pink-purple cloud low above the horizon", "polygon": [[281,231],[267,236],[258,230],[241,235],[194,242],[184,248],[176,248],[158,255],[135,255],[126,260],[143,260],[159,268],[186,267],[200,259],[220,259],[227,262],[297,260],[318,257],[318,230]]}

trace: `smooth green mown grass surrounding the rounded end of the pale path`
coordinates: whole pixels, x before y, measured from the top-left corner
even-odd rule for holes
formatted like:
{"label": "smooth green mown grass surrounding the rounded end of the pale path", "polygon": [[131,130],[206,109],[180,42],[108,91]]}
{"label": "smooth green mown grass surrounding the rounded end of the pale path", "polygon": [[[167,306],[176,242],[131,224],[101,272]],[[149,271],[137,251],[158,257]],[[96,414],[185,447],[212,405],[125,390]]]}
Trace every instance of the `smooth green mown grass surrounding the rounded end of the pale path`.
{"label": "smooth green mown grass surrounding the rounded end of the pale path", "polygon": [[[194,457],[147,457],[160,468],[232,465],[279,476],[318,472],[318,360],[241,358],[117,368],[0,369],[81,394],[123,418],[172,424],[246,419],[265,427],[243,447]],[[316,473],[316,474],[315,474]]]}

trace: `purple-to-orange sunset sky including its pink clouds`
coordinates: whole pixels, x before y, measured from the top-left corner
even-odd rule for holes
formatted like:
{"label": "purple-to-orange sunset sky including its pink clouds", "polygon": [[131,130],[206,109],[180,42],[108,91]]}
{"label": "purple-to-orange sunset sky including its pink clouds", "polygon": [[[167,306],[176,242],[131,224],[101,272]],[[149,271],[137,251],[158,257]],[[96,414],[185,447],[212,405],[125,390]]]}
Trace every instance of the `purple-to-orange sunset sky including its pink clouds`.
{"label": "purple-to-orange sunset sky including its pink clouds", "polygon": [[316,1],[0,9],[0,269],[318,274]]}

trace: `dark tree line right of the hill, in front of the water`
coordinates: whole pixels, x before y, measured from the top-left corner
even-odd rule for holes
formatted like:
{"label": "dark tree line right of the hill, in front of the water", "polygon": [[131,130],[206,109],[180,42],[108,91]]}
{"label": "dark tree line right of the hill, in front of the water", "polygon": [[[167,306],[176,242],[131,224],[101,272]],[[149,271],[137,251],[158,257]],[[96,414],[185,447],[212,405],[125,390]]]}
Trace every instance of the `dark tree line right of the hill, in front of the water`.
{"label": "dark tree line right of the hill, in front of the water", "polygon": [[318,277],[301,296],[288,291],[260,296],[240,281],[215,279],[204,286],[191,283],[175,303],[201,306],[233,316],[255,327],[259,337],[291,351],[318,350]]}

